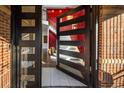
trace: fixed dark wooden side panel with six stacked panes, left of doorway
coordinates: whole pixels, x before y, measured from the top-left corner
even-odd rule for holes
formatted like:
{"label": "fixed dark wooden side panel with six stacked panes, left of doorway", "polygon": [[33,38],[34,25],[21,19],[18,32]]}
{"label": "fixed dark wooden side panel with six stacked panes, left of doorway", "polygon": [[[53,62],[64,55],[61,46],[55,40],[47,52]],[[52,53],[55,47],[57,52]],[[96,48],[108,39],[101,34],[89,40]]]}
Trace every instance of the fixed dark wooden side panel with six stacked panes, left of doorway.
{"label": "fixed dark wooden side panel with six stacked panes, left of doorway", "polygon": [[16,85],[41,87],[41,6],[12,6],[16,47]]}

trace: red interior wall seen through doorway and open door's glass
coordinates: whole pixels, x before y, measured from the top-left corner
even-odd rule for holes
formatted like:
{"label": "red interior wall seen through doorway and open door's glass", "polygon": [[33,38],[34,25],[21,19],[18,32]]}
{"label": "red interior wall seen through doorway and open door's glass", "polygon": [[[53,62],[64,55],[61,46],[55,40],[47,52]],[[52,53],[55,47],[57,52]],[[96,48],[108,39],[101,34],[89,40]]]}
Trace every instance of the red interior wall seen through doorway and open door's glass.
{"label": "red interior wall seen through doorway and open door's glass", "polygon": [[[70,9],[48,9],[48,21],[49,24],[56,29],[56,17],[60,14],[63,14],[64,12],[69,11]],[[77,18],[79,16],[84,16],[85,15],[85,10],[79,11],[73,15],[69,15],[68,17],[63,17],[61,19],[61,22],[70,20],[70,19],[74,19]],[[85,22],[82,23],[78,23],[78,24],[72,24],[72,25],[68,25],[68,26],[64,26],[60,28],[60,31],[67,31],[67,30],[72,30],[72,29],[80,29],[80,28],[85,28]],[[84,35],[73,35],[70,36],[72,41],[84,41],[85,40],[85,36]],[[53,40],[52,40],[53,39]],[[49,35],[49,42],[56,42],[56,36],[51,34],[50,31],[50,35]],[[55,44],[55,43],[53,43]],[[53,46],[52,44],[50,44],[50,46]],[[55,46],[55,45],[54,45]],[[80,52],[84,52],[84,47],[83,46],[77,46]]]}

